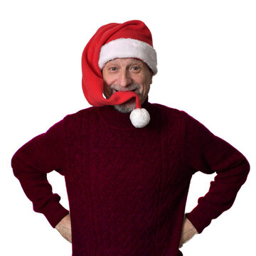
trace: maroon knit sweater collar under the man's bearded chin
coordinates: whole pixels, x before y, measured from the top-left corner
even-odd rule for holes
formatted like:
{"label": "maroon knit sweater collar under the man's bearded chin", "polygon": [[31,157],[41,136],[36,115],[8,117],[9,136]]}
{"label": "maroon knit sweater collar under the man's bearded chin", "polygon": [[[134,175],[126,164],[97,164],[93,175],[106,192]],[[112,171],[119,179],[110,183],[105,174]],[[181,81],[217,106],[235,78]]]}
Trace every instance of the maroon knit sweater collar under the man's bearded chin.
{"label": "maroon knit sweater collar under the man's bearded chin", "polygon": [[[149,97],[146,97],[146,100],[142,104],[142,108],[145,108],[149,114],[151,115],[150,108],[151,104],[149,103]],[[113,106],[106,105],[103,107],[96,107],[97,112],[105,124],[110,125],[115,129],[124,129],[124,130],[136,130],[136,129],[144,129],[144,128],[136,128],[132,125],[131,120],[129,119],[130,113],[121,113],[114,109]],[[150,122],[149,122],[150,124]],[[149,125],[148,124],[148,125]]]}

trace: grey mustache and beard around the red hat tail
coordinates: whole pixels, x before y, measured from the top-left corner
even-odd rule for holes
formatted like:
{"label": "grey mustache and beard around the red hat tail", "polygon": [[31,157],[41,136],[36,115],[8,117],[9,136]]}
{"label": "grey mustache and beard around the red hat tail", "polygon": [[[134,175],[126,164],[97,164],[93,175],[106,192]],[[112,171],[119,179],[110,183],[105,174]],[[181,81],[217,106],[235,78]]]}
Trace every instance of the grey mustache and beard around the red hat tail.
{"label": "grey mustache and beard around the red hat tail", "polygon": [[[139,100],[142,102],[142,92],[139,91],[140,85],[138,84],[132,84],[129,85],[129,87],[119,87],[118,85],[110,85],[110,95],[112,95],[114,92],[126,92],[126,91],[132,91],[135,90],[135,93],[139,96]],[[136,99],[135,97],[132,97],[130,100],[127,100],[127,102],[124,102],[120,105],[113,105],[114,109],[121,112],[121,113],[130,113],[132,110],[136,108]]]}

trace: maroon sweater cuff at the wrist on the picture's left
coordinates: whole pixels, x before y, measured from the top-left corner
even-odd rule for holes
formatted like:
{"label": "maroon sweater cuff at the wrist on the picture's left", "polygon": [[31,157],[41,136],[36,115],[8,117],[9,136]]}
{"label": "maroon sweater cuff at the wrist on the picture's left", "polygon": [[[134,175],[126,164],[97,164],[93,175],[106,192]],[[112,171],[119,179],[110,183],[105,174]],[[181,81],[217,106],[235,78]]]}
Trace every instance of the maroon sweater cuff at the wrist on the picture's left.
{"label": "maroon sweater cuff at the wrist on the picture's left", "polygon": [[43,215],[46,216],[46,219],[50,225],[55,228],[55,226],[62,220],[69,211],[65,209],[60,203],[53,202],[50,206],[43,212]]}

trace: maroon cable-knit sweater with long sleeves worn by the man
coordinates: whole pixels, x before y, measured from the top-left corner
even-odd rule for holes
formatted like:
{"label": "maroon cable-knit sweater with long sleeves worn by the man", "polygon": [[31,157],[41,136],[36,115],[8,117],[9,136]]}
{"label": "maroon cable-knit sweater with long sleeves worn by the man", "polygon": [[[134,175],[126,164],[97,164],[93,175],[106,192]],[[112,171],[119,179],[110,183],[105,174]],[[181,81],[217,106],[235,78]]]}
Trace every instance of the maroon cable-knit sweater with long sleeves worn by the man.
{"label": "maroon cable-knit sweater with long sleeves worn by the man", "polygon": [[65,176],[73,256],[177,256],[191,176],[216,172],[186,216],[201,233],[233,205],[250,165],[237,149],[179,110],[144,102],[141,129],[111,106],[90,107],[50,127],[12,159],[33,209],[50,225],[68,214],[46,174]]}

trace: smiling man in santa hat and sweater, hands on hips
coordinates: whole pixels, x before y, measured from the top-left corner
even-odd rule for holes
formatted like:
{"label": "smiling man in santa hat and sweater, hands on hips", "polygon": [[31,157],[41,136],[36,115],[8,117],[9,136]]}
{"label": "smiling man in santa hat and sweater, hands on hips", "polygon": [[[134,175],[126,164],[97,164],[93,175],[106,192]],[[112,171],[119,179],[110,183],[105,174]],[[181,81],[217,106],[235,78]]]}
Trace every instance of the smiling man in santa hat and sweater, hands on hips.
{"label": "smiling man in santa hat and sweater, hands on hips", "polygon": [[[94,107],[12,159],[33,209],[72,242],[74,256],[182,255],[178,248],[228,210],[245,183],[250,166],[237,149],[186,112],[149,103],[156,73],[142,21],[102,26],[82,53],[82,89]],[[47,181],[53,170],[65,176],[70,214]],[[196,171],[217,175],[185,214]]]}

